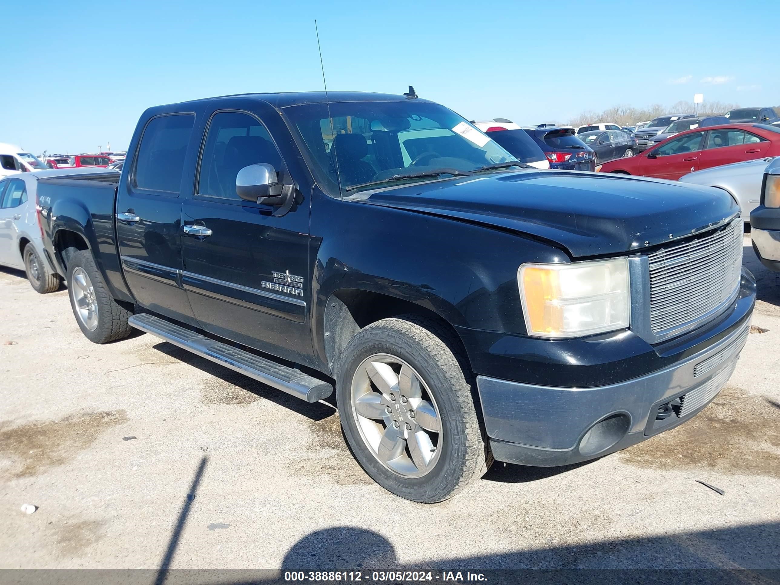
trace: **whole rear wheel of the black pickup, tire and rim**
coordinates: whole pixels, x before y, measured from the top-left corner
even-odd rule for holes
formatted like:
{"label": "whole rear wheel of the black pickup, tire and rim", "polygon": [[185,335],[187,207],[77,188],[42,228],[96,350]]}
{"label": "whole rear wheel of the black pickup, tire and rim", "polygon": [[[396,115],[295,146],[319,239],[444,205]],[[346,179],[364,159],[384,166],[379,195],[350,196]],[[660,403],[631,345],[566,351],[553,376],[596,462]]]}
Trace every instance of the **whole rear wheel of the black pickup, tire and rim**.
{"label": "whole rear wheel of the black pickup, tire and rim", "polygon": [[127,322],[131,313],[108,293],[89,250],[68,256],[68,296],[76,323],[90,342],[112,342],[133,331]]}

